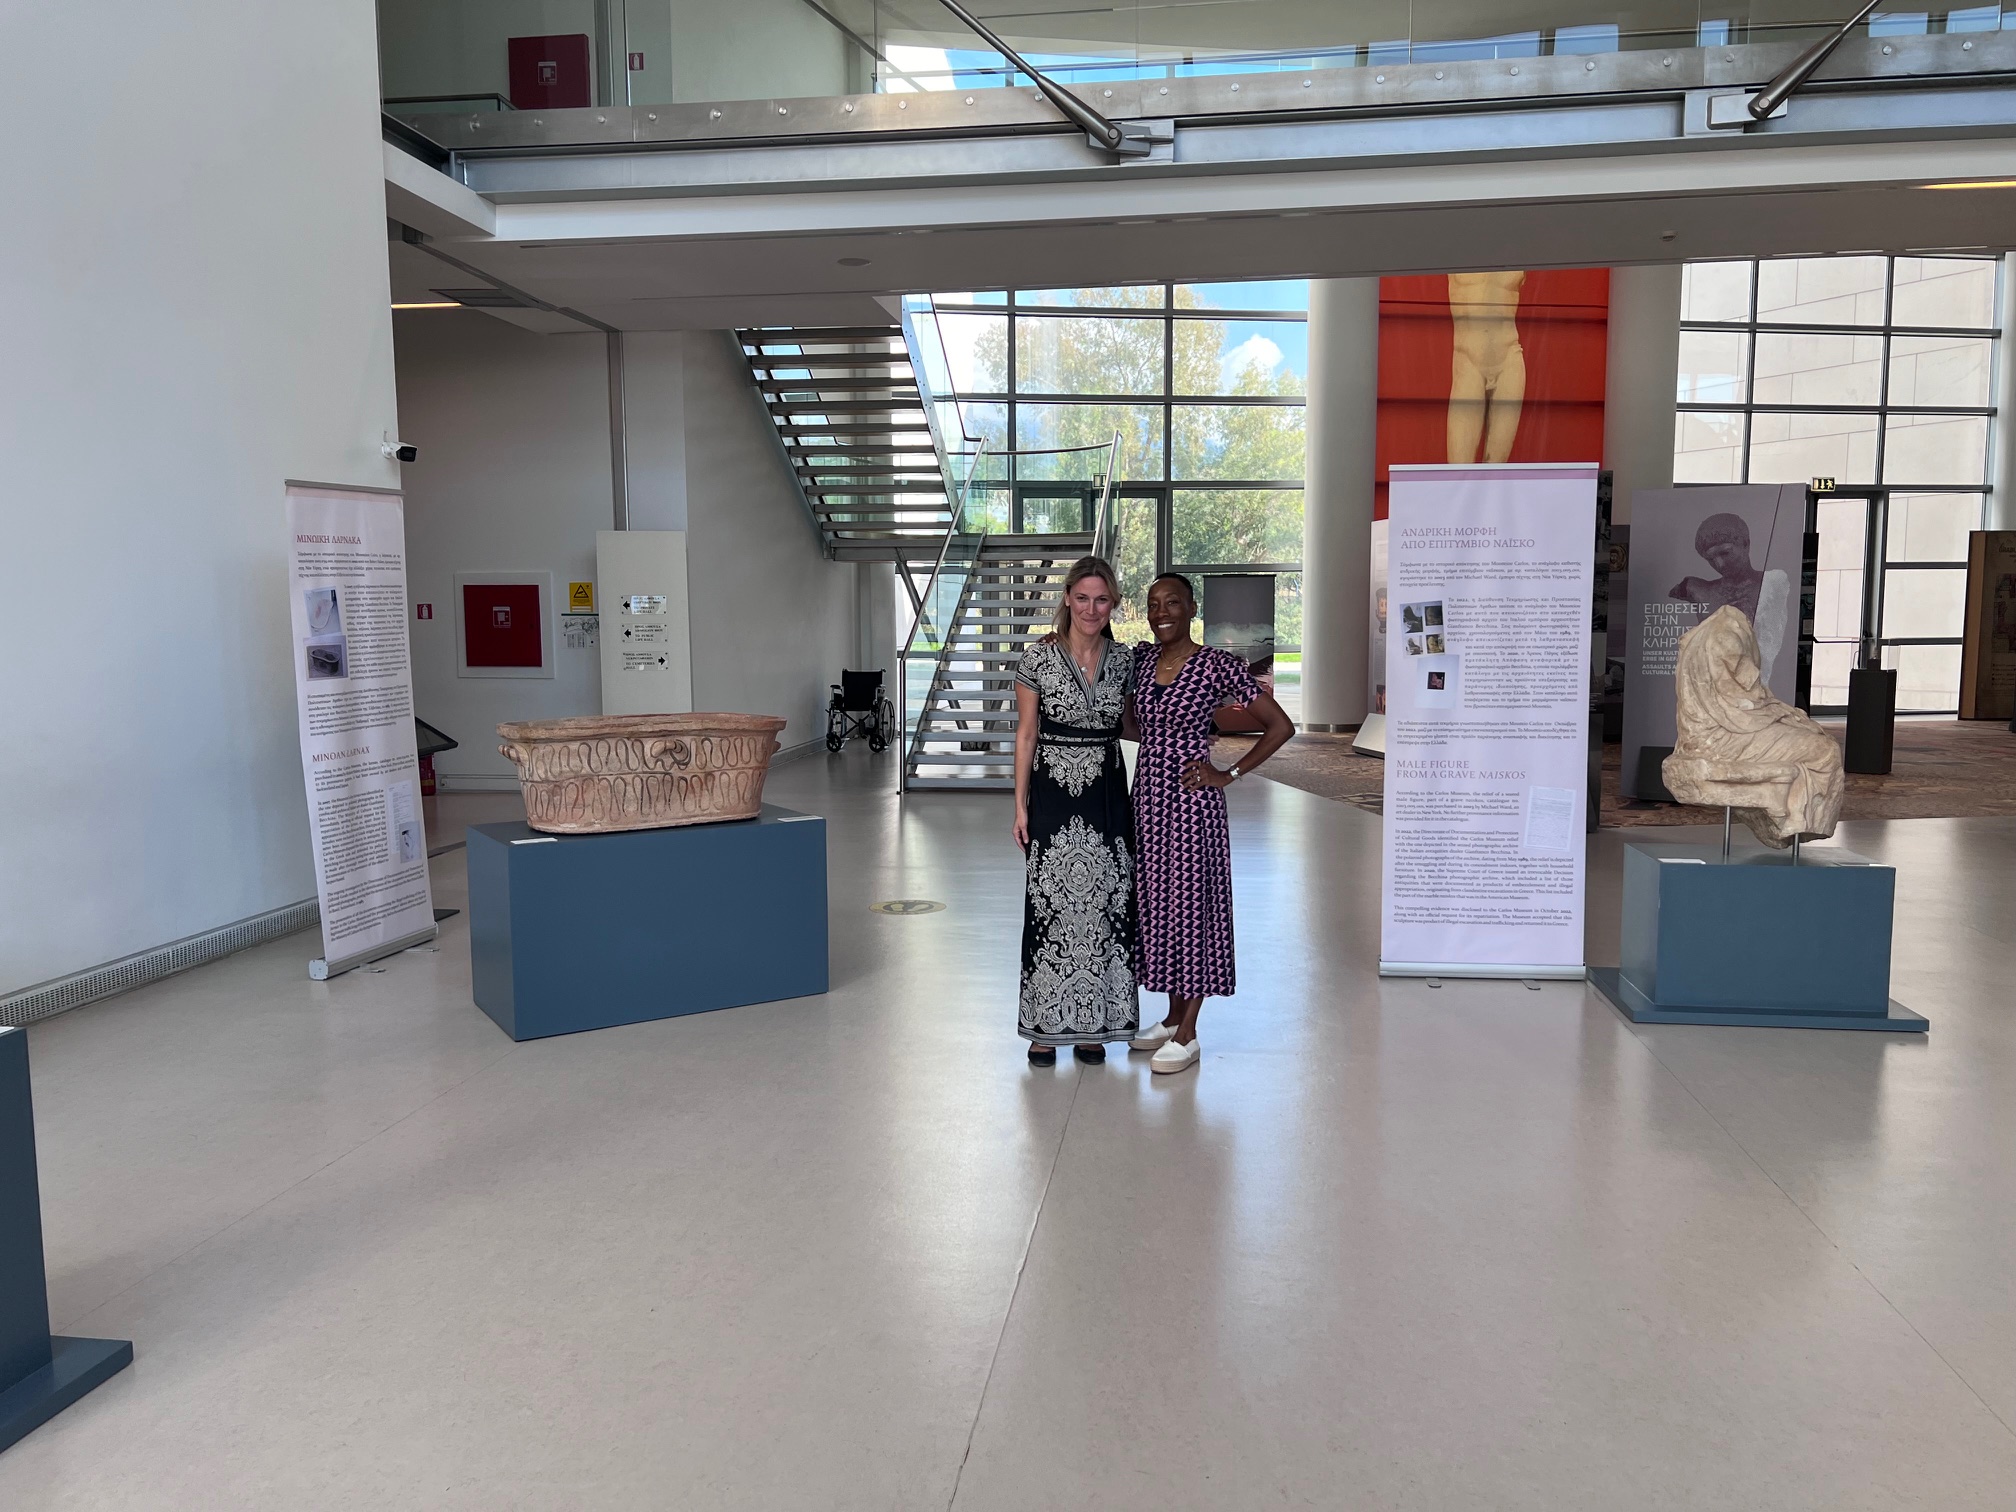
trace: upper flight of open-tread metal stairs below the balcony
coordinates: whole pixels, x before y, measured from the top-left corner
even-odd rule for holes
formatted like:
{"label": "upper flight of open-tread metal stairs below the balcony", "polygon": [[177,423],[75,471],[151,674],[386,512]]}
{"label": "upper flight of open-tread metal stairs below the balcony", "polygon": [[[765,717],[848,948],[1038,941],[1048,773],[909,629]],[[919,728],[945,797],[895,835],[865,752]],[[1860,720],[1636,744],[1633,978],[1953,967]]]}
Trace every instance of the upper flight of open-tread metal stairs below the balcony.
{"label": "upper flight of open-tread metal stairs below the balcony", "polygon": [[903,329],[736,335],[827,556],[935,556],[952,502]]}

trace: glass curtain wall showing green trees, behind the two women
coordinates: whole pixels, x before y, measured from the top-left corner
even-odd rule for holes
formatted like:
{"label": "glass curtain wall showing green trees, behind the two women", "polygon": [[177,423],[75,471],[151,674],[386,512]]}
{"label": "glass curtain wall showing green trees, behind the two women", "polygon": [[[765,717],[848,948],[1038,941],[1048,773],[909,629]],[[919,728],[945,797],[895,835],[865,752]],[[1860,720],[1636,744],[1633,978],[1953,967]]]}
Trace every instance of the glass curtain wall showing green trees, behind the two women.
{"label": "glass curtain wall showing green trees, behind the two women", "polygon": [[[966,425],[994,450],[1121,433],[1115,488],[1121,639],[1145,639],[1157,573],[1274,575],[1280,651],[1302,643],[1302,411],[1308,284],[1139,284],[937,294]],[[1079,528],[1056,500],[1099,452],[1016,458],[972,528]]]}

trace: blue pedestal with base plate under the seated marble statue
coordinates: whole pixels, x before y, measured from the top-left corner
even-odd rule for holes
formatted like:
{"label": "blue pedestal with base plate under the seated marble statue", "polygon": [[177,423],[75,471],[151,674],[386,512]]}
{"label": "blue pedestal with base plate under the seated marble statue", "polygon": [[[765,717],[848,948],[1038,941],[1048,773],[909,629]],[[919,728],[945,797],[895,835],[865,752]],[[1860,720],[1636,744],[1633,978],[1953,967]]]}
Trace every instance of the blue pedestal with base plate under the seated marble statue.
{"label": "blue pedestal with base plate under the seated marble statue", "polygon": [[1637,1024],[1923,1032],[1889,996],[1897,871],[1853,851],[1722,859],[1625,845],[1619,966],[1589,980]]}

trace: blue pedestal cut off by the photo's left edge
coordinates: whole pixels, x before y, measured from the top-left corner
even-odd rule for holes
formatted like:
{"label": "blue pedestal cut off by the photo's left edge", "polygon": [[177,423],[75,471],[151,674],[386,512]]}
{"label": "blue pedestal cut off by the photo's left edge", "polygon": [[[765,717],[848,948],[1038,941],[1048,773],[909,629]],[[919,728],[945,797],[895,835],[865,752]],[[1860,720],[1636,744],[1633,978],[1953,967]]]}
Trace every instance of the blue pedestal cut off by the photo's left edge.
{"label": "blue pedestal cut off by the photo's left edge", "polygon": [[0,1450],[131,1363],[125,1339],[48,1333],[28,1036],[0,1028]]}

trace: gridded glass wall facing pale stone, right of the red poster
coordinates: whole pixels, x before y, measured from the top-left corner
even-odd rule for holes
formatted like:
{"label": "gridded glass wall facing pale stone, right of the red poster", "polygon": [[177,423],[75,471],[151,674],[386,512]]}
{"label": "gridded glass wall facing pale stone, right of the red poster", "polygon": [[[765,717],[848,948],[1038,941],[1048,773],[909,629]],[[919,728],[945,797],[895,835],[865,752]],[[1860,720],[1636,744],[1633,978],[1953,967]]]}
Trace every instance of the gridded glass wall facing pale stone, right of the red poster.
{"label": "gridded glass wall facing pale stone, right of the red poster", "polygon": [[[1695,262],[1681,288],[1673,480],[1887,488],[1883,665],[1899,710],[1954,712],[1968,532],[1988,502],[1996,260]],[[1820,504],[1818,708],[1849,698],[1863,520],[1863,500]]]}

